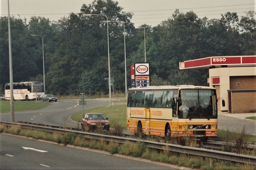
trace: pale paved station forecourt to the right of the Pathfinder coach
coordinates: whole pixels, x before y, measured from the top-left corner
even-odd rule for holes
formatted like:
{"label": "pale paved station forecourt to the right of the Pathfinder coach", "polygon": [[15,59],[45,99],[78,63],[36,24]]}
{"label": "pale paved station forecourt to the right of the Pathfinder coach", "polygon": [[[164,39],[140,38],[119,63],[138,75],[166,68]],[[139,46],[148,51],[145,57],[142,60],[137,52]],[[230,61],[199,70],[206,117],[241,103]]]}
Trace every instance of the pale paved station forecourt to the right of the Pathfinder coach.
{"label": "pale paved station forecourt to the right of the Pathfinder coach", "polygon": [[245,129],[246,134],[256,136],[256,120],[246,119],[256,116],[256,113],[218,112],[218,129],[241,133]]}

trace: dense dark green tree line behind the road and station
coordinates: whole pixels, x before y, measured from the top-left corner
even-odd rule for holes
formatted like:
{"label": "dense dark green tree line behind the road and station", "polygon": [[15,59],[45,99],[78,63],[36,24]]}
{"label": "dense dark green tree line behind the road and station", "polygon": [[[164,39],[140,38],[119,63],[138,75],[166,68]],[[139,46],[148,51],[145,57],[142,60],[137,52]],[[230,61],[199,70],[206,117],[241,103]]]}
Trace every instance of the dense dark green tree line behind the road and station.
{"label": "dense dark green tree line behind the road and station", "polygon": [[[108,46],[105,16],[108,17],[110,70],[115,91],[125,91],[124,27],[127,79],[130,66],[144,62],[144,30],[134,27],[132,13],[118,2],[95,0],[83,4],[79,14],[70,13],[58,22],[32,17],[12,17],[13,81],[42,81],[42,39],[46,92],[60,95],[108,94]],[[148,25],[142,25],[146,27]],[[179,62],[208,56],[256,54],[255,13],[239,17],[235,12],[221,19],[198,18],[190,11],[176,10],[168,20],[146,28],[146,60],[150,62],[151,85],[206,85],[208,70],[179,70]],[[9,78],[8,18],[0,17],[0,92]],[[128,81],[128,87],[130,82]]]}

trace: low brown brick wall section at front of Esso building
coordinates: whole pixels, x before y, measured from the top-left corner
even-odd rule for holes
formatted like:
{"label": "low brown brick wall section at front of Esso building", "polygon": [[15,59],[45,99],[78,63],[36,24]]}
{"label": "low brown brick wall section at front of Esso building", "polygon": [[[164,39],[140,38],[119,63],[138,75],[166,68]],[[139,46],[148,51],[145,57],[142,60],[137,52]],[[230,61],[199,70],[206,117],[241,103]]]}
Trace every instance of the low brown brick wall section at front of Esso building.
{"label": "low brown brick wall section at front of Esso building", "polygon": [[256,112],[256,91],[232,91],[231,92],[231,113],[255,113]]}

